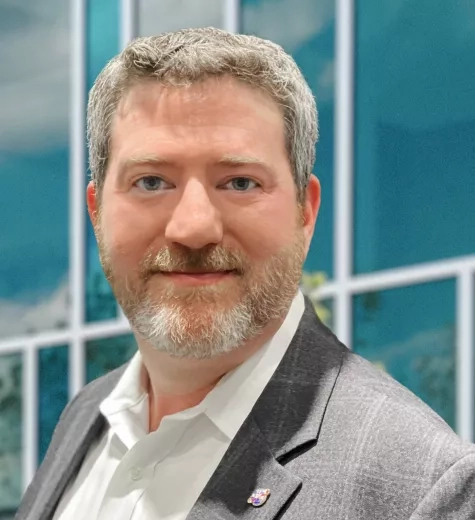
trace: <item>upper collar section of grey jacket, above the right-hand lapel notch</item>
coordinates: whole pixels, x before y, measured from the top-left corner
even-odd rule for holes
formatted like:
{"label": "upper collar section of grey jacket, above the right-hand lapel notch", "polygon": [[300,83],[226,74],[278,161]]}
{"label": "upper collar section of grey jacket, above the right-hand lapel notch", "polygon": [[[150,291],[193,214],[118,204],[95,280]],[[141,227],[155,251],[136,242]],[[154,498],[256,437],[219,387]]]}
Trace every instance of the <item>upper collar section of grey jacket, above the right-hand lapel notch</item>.
{"label": "upper collar section of grey jacket, above the right-hand lapel notch", "polygon": [[306,300],[297,332],[251,412],[277,460],[318,439],[347,352]]}

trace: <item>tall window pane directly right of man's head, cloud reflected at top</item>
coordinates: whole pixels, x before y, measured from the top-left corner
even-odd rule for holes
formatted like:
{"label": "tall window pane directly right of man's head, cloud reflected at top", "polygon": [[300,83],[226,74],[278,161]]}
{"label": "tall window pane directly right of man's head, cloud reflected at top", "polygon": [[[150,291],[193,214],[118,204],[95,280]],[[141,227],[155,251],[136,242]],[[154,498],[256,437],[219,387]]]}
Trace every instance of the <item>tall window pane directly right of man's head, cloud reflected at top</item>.
{"label": "tall window pane directly right of man's head, cloud reflected at top", "polygon": [[322,204],[305,264],[307,271],[333,274],[333,111],[335,1],[242,0],[242,30],[268,38],[292,54],[316,98],[320,140],[314,172],[322,184]]}

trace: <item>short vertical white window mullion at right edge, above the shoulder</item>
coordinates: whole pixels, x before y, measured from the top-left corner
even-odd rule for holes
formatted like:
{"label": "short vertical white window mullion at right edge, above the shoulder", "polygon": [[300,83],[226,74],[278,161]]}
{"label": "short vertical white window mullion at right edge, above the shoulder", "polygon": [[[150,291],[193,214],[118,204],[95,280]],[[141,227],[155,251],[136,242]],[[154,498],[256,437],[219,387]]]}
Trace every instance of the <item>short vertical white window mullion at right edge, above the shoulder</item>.
{"label": "short vertical white window mullion at right edge, above the shoulder", "polygon": [[475,294],[474,273],[470,269],[462,271],[457,278],[456,305],[456,345],[457,345],[457,433],[473,442],[474,438],[474,325]]}

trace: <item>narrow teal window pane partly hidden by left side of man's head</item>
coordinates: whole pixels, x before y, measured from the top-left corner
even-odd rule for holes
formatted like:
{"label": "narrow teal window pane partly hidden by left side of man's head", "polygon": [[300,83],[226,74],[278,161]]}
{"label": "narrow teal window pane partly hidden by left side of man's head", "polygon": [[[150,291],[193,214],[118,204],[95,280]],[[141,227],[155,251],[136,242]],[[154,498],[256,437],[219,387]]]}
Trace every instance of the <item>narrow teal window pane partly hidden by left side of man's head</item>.
{"label": "narrow teal window pane partly hidden by left side of man's head", "polygon": [[[106,63],[119,52],[118,0],[87,2],[87,90]],[[115,318],[117,304],[104,276],[89,217],[86,223],[86,321]]]}

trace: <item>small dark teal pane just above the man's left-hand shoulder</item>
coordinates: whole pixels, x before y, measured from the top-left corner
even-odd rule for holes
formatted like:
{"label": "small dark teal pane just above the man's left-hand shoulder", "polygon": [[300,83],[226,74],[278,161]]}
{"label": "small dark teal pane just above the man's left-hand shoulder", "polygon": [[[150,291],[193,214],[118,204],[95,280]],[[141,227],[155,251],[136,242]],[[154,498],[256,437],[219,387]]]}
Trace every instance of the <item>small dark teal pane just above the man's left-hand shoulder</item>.
{"label": "small dark teal pane just above the man's left-hand shoulder", "polygon": [[38,352],[38,464],[46,454],[61,412],[68,404],[68,346]]}

